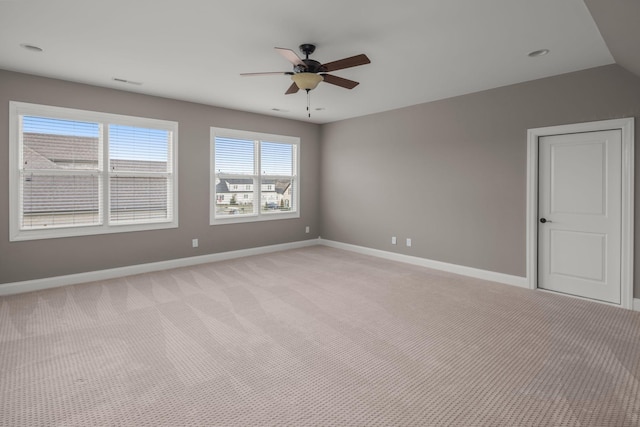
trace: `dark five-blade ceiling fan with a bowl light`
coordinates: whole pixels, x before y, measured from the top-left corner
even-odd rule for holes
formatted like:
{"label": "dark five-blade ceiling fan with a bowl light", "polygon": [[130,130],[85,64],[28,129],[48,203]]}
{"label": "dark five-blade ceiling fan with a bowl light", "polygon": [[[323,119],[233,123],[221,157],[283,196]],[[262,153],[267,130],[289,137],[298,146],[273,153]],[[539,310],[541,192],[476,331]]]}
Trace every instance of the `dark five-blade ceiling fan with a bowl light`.
{"label": "dark five-blade ceiling fan with a bowl light", "polygon": [[298,90],[306,90],[307,94],[310,90],[315,89],[321,81],[325,81],[332,85],[344,87],[346,89],[353,89],[360,83],[345,79],[342,77],[327,74],[331,71],[343,70],[345,68],[357,67],[358,65],[365,65],[371,63],[367,55],[360,54],[351,56],[349,58],[339,59],[333,62],[327,62],[321,64],[318,61],[309,59],[316,50],[316,46],[310,43],[300,45],[300,51],[305,55],[305,58],[300,58],[291,49],[285,49],[282,47],[275,48],[284,58],[293,64],[293,71],[274,71],[267,73],[242,73],[241,76],[263,76],[269,74],[284,74],[291,76],[293,84],[289,86],[289,89],[285,92],[285,95],[298,92]]}

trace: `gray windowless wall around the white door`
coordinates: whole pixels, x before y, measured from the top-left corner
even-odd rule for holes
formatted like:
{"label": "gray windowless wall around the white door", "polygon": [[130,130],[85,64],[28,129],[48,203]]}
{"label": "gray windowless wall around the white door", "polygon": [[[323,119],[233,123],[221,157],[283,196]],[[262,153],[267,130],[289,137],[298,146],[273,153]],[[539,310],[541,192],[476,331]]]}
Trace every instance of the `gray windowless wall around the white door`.
{"label": "gray windowless wall around the white door", "polygon": [[527,129],[632,116],[640,79],[610,65],[324,125],[322,237],[525,276]]}

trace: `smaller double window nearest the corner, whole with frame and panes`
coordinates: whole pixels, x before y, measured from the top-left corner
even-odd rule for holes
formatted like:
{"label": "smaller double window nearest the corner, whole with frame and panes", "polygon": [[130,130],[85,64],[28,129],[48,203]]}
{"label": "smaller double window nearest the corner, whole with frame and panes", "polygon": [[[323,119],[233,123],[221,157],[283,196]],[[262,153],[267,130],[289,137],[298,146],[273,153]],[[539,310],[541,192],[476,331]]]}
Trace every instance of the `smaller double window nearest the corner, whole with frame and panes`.
{"label": "smaller double window nearest the corner, whole with frame and panes", "polygon": [[211,128],[211,224],[300,217],[299,147],[295,137]]}

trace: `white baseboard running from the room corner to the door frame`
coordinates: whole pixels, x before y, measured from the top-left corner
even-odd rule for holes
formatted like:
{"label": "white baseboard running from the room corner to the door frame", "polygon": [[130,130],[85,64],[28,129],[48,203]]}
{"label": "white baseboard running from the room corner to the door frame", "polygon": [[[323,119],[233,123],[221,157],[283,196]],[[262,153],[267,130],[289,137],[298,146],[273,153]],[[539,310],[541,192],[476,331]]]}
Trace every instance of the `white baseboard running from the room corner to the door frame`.
{"label": "white baseboard running from the room corner to the door frame", "polygon": [[345,249],[352,252],[358,252],[363,255],[371,255],[379,258],[385,258],[392,261],[405,262],[407,264],[419,265],[421,267],[433,268],[434,270],[447,271],[449,273],[460,274],[463,276],[474,277],[476,279],[489,280],[492,282],[504,283],[506,285],[518,286],[520,288],[529,288],[526,277],[512,276],[504,273],[496,273],[494,271],[481,270],[473,267],[465,267],[462,265],[449,264],[441,261],[434,261],[426,258],[419,258],[411,255],[403,255],[395,252],[387,252],[379,249],[366,248],[364,246],[351,245],[348,243],[336,242],[333,240],[325,240],[320,238],[321,245],[332,248]]}

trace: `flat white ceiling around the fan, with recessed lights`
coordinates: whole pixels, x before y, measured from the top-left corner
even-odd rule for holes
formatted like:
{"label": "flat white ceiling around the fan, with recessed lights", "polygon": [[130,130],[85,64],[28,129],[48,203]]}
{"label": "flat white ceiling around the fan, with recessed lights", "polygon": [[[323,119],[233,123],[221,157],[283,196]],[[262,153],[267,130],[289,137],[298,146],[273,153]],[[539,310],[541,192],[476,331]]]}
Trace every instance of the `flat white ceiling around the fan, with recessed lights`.
{"label": "flat white ceiling around the fan, with recessed lights", "polygon": [[[288,76],[239,75],[290,71],[273,47],[301,43],[371,59],[313,90],[311,119]],[[613,62],[583,0],[0,1],[0,68],[314,123]]]}

